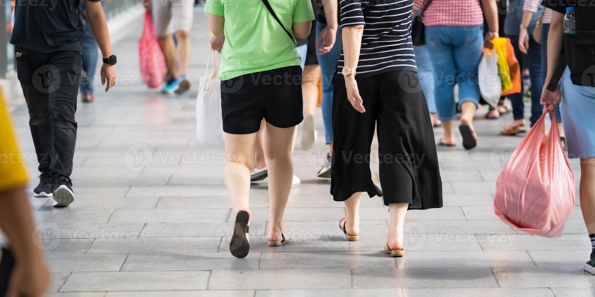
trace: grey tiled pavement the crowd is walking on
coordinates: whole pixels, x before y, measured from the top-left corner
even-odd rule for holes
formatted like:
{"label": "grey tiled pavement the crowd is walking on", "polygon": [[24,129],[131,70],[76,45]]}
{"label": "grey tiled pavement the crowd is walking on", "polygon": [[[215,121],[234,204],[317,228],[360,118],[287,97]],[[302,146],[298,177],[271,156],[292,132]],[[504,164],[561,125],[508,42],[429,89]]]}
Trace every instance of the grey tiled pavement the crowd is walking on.
{"label": "grey tiled pavement the crowd is walking on", "polygon": [[[131,78],[140,24],[134,31],[114,46],[118,73]],[[196,82],[208,55],[202,12],[192,39]],[[328,195],[329,182],[315,177],[322,144],[294,156],[302,186],[292,189],[284,217],[294,242],[266,247],[267,185],[255,184],[252,251],[231,257],[221,150],[196,141],[196,89],[168,97],[123,82],[79,105],[76,201],[58,209],[48,198],[31,198],[55,271],[52,296],[595,295],[595,277],[582,268],[590,247],[580,206],[555,239],[515,232],[494,215],[502,152],[521,137],[498,135],[511,116],[488,121],[485,110],[478,112],[476,149],[464,151],[460,142],[439,148],[444,207],[409,211],[405,258],[381,252],[389,214],[379,198],[362,201],[361,240],[345,241],[337,228],[342,204]],[[14,118],[24,152],[33,154],[26,108]],[[322,133],[320,112],[317,119]],[[578,163],[571,163],[578,181]],[[35,167],[29,164],[32,176]]]}

